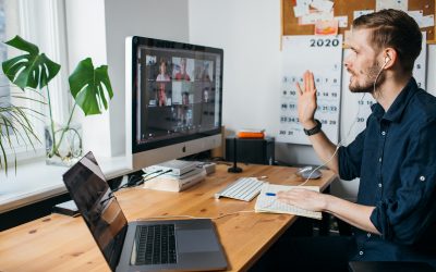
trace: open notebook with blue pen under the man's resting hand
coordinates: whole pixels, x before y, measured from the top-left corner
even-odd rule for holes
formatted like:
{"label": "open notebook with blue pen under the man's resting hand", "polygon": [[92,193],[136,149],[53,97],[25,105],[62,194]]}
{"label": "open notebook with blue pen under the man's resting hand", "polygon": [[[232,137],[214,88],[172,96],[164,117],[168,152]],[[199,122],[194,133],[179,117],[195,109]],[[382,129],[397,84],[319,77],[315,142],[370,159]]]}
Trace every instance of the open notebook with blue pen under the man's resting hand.
{"label": "open notebook with blue pen under the man's resting hand", "polygon": [[280,190],[289,190],[291,188],[296,188],[296,187],[319,191],[319,187],[317,186],[302,187],[302,186],[277,185],[277,184],[265,183],[264,185],[262,185],[261,194],[257,197],[254,210],[256,212],[289,213],[289,214],[295,214],[300,217],[306,217],[319,220],[323,219],[320,212],[307,211],[292,205],[280,202],[277,200],[276,196],[271,196],[270,194],[270,193],[277,194]]}

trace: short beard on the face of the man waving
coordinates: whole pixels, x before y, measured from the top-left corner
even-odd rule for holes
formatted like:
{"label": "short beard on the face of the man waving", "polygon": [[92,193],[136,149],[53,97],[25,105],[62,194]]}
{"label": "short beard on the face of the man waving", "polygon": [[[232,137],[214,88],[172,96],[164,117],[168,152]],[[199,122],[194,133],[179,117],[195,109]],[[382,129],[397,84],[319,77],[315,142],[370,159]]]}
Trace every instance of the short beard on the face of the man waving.
{"label": "short beard on the face of the man waving", "polygon": [[[352,73],[351,71],[349,71],[349,73],[351,74],[351,76],[355,77],[354,73]],[[366,75],[365,82],[362,85],[360,85],[358,81],[354,82],[354,85],[352,84],[352,82],[350,82],[349,88],[351,92],[373,94],[377,89],[377,87],[380,86],[383,82],[385,82],[385,75],[383,72],[380,73],[380,66],[378,65],[378,63],[374,63],[365,72],[361,71],[360,75]],[[377,82],[374,88],[375,81]]]}

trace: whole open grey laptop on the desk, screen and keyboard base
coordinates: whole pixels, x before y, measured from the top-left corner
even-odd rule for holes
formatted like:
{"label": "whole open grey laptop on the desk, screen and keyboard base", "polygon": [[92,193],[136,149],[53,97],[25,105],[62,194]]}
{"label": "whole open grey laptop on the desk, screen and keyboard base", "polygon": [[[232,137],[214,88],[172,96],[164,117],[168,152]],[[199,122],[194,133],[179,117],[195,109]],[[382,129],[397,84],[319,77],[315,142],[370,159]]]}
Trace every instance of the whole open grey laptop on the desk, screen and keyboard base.
{"label": "whole open grey laptop on the desk, screen and keyboard base", "polygon": [[63,182],[112,271],[227,268],[211,220],[128,223],[92,152],[63,174]]}

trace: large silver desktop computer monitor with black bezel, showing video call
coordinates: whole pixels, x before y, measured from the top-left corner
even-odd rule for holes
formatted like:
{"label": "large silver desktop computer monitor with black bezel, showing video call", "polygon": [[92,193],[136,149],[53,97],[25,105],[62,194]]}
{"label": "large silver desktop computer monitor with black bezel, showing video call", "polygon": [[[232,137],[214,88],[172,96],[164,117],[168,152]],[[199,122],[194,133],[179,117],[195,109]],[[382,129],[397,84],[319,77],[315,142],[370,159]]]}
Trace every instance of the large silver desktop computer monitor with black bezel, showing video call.
{"label": "large silver desktop computer monitor with black bezel, showing video call", "polygon": [[222,49],[128,37],[126,156],[133,170],[221,145]]}

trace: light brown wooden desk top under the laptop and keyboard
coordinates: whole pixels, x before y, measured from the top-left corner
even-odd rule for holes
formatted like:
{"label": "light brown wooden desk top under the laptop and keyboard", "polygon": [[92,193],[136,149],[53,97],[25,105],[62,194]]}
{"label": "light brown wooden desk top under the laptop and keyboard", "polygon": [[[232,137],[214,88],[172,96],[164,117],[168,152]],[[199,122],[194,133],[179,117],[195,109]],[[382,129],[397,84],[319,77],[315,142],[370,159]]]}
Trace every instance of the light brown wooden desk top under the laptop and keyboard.
{"label": "light brown wooden desk top under the laptop and keyboard", "polygon": [[[255,200],[214,197],[239,176],[266,175],[270,183],[288,185],[304,182],[292,168],[240,166],[243,173],[228,174],[227,165],[218,165],[206,181],[182,193],[132,188],[117,193],[117,198],[129,221],[168,214],[215,218],[254,209]],[[323,171],[322,178],[307,185],[324,190],[335,178],[331,171]],[[288,214],[237,213],[214,220],[229,271],[247,270],[295,219]],[[0,233],[0,271],[109,271],[109,267],[81,217],[51,214]]]}

